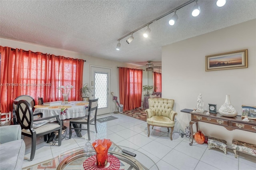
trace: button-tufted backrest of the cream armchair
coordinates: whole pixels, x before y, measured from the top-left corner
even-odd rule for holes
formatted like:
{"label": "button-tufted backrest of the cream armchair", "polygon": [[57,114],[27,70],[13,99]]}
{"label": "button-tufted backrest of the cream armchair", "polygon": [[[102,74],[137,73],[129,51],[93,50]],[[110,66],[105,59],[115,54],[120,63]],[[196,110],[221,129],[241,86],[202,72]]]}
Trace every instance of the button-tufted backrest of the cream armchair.
{"label": "button-tufted backrest of the cream armchair", "polygon": [[148,99],[148,105],[149,109],[152,110],[154,115],[162,115],[169,117],[170,112],[173,109],[174,100],[163,98],[150,98]]}

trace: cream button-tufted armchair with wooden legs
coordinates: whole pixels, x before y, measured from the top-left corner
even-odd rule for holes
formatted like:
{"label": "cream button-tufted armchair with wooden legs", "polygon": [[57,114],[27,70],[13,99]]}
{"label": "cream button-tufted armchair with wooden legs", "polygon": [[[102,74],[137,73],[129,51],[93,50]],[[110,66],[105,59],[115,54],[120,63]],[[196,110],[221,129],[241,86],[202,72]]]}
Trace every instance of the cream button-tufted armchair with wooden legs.
{"label": "cream button-tufted armchair with wooden legs", "polygon": [[170,132],[170,138],[172,140],[172,132],[174,128],[174,117],[177,112],[173,111],[174,100],[173,99],[163,99],[163,98],[150,98],[148,99],[149,109],[146,109],[147,113],[147,124],[148,124],[148,137],[149,137],[149,127],[152,125],[158,127],[167,127],[168,132]]}

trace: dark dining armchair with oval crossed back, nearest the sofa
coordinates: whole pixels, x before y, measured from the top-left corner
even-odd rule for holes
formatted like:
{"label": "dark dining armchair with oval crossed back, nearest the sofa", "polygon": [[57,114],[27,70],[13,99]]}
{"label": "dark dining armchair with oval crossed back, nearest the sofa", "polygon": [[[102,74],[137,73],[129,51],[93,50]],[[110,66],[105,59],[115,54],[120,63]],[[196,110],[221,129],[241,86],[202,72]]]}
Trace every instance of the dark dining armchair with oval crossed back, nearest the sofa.
{"label": "dark dining armchair with oval crossed back, nearest the sofa", "polygon": [[[36,152],[36,137],[38,136],[46,136],[46,134],[50,134],[51,132],[58,131],[58,134],[62,132],[62,121],[59,118],[59,115],[51,116],[51,117],[44,117],[41,119],[34,120],[35,115],[41,115],[42,113],[36,113],[33,115],[32,107],[26,100],[20,100],[17,103],[17,118],[18,123],[21,126],[21,134],[24,136],[28,136],[31,138],[31,154],[30,160],[34,159],[35,152]],[[46,121],[48,119],[56,118],[57,123],[45,123],[40,127],[33,128],[33,123],[38,121]],[[35,126],[35,124],[34,124]],[[24,138],[22,136],[22,138]],[[61,146],[62,138],[58,138],[58,146]],[[46,141],[46,138],[44,138]]]}

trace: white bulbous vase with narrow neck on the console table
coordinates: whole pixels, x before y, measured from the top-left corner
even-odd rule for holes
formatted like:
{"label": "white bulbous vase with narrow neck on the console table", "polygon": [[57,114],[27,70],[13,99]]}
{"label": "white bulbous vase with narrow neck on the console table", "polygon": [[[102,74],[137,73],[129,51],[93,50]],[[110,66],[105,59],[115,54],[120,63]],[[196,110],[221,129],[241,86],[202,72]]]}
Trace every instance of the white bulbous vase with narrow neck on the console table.
{"label": "white bulbous vase with narrow neck on the console table", "polygon": [[230,95],[226,95],[225,103],[220,107],[219,113],[226,117],[235,117],[237,115],[236,109],[230,103]]}

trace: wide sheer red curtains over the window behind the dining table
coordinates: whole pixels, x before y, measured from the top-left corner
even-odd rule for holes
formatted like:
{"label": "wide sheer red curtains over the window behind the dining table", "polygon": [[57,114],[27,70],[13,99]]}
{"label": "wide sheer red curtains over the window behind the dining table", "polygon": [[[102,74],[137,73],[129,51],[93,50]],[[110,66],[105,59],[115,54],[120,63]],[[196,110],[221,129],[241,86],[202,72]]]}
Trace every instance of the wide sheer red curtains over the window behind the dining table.
{"label": "wide sheer red curtains over the window behind the dining table", "polygon": [[[84,60],[54,56],[0,46],[0,111],[12,111],[14,99],[20,95],[37,97],[44,102],[61,100],[58,87],[72,84],[70,100],[80,100],[76,91],[82,87]],[[68,72],[68,73],[67,73]]]}

